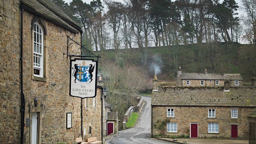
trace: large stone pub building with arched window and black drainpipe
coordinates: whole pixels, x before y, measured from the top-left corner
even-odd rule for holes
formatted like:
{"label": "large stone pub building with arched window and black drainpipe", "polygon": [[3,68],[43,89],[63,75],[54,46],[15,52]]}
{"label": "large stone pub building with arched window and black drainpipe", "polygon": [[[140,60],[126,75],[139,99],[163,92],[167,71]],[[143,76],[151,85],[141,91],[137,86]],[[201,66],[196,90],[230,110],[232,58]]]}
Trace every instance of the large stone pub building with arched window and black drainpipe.
{"label": "large stone pub building with arched window and black drainpipe", "polygon": [[0,25],[0,143],[100,140],[102,85],[95,98],[69,95],[81,27],[50,0],[1,0]]}

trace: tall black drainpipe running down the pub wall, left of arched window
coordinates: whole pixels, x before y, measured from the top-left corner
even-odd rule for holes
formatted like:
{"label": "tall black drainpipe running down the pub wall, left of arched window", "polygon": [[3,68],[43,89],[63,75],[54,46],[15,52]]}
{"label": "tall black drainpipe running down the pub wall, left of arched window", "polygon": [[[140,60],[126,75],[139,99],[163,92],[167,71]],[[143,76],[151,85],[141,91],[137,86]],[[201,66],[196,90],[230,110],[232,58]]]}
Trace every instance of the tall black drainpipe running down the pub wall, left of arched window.
{"label": "tall black drainpipe running down the pub wall, left of arched window", "polygon": [[23,93],[23,12],[24,6],[20,5],[20,93],[21,93],[21,124],[20,124],[20,144],[23,144],[24,137],[24,117],[25,117],[25,98]]}

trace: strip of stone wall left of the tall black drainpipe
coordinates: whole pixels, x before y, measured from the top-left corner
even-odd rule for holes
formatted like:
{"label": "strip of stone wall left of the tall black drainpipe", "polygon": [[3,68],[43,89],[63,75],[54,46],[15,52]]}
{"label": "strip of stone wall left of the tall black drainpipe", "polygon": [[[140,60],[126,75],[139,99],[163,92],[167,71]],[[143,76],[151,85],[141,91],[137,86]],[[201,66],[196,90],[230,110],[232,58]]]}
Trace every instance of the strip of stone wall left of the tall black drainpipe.
{"label": "strip of stone wall left of the tall black drainpipe", "polygon": [[20,143],[19,0],[0,1],[0,143]]}

